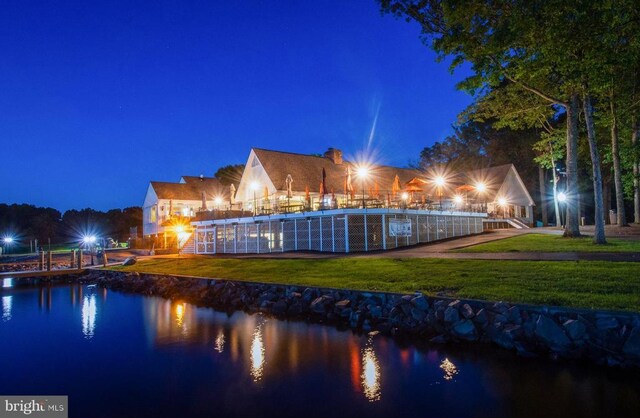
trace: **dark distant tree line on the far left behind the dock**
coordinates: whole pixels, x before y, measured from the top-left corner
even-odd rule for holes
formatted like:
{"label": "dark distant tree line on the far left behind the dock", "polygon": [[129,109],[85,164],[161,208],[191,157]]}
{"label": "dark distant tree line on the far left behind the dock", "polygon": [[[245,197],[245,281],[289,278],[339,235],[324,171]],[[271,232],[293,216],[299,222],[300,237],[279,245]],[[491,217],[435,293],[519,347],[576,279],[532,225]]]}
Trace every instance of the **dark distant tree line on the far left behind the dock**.
{"label": "dark distant tree line on the far left behind the dock", "polygon": [[0,235],[14,238],[23,247],[36,239],[43,244],[77,242],[84,235],[126,241],[132,227],[142,233],[142,208],[137,206],[106,212],[71,209],[63,214],[28,204],[0,204]]}

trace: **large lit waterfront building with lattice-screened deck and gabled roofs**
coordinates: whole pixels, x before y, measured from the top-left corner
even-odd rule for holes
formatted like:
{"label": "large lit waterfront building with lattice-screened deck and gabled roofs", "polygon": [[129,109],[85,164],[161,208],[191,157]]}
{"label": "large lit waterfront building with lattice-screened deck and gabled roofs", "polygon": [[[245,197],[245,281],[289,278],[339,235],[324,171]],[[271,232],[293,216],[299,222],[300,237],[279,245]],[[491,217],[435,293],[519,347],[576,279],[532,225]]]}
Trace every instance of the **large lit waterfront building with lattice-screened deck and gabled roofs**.
{"label": "large lit waterfront building with lattice-screened deck and gabled roofs", "polygon": [[[237,185],[215,178],[151,182],[144,234],[199,254],[353,252],[526,228],[533,199],[512,164],[423,172],[253,148]],[[195,232],[195,233],[193,233]]]}

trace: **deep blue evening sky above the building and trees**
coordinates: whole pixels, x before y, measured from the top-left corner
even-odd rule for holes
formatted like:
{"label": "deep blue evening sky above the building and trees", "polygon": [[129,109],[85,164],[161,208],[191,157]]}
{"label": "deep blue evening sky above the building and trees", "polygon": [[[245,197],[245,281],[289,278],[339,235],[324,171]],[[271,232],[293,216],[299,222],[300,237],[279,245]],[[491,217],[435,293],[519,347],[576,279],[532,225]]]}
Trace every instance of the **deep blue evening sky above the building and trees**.
{"label": "deep blue evening sky above the building and trees", "polygon": [[8,0],[0,51],[0,202],[60,210],[141,205],[252,146],[355,155],[378,109],[373,148],[406,165],[470,102],[374,0]]}

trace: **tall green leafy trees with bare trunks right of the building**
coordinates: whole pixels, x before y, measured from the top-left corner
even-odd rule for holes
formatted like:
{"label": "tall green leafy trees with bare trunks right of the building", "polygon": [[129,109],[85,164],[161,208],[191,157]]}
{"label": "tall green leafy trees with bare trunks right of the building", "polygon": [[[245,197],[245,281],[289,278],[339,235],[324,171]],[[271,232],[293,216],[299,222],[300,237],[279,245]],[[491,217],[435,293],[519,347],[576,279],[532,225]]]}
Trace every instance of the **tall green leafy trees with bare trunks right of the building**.
{"label": "tall green leafy trees with bare trunks right of the building", "polygon": [[[556,192],[563,161],[566,237],[580,236],[578,202],[589,193],[594,242],[606,242],[603,163],[612,171],[617,224],[628,222],[625,199],[640,223],[640,8],[634,0],[379,1],[384,12],[417,22],[422,41],[439,58],[452,58],[451,70],[471,66],[458,85],[474,97],[465,121],[537,130],[534,159],[553,170]],[[514,138],[513,145],[520,142]],[[588,186],[580,181],[580,156],[589,164]]]}

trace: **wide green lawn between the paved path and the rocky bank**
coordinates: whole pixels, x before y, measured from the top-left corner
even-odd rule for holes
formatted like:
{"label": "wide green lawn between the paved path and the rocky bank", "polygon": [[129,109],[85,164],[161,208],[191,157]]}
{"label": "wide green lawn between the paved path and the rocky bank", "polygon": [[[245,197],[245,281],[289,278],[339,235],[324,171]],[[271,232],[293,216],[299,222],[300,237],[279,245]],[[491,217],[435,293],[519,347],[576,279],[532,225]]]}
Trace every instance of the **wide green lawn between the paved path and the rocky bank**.
{"label": "wide green lawn between the paved path and the rocky bank", "polygon": [[640,264],[451,259],[156,258],[122,271],[640,311]]}

